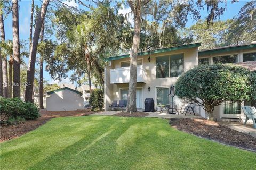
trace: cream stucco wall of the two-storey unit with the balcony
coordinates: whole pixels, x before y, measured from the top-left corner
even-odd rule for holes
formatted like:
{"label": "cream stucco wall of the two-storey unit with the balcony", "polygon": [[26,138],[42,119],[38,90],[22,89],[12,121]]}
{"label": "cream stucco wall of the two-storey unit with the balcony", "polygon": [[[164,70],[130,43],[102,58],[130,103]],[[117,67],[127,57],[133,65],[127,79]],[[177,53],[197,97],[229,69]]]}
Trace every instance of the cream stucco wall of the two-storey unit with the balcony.
{"label": "cream stucco wall of the two-storey unit with the balcony", "polygon": [[[189,48],[189,49],[181,49],[175,50],[172,52],[165,52],[154,54],[151,56],[151,61],[148,61],[148,55],[145,56],[138,56],[138,59],[142,58],[142,66],[145,69],[145,83],[139,82],[137,83],[137,87],[142,88],[142,105],[144,109],[144,101],[146,98],[153,98],[155,101],[155,109],[156,109],[156,88],[157,87],[170,87],[174,85],[177,81],[178,77],[171,77],[171,78],[157,78],[156,79],[156,57],[158,56],[166,56],[166,55],[173,55],[173,54],[184,54],[184,72],[189,69],[192,69],[194,66],[198,65],[198,48]],[[111,61],[111,66],[107,69],[116,69],[120,68],[120,63],[130,61],[130,58],[123,58],[121,60],[114,60]],[[108,78],[107,78],[108,77]],[[120,89],[128,88],[129,83],[121,83],[121,84],[109,84],[106,80],[110,79],[109,72],[106,72],[105,69],[105,105],[110,104],[113,100],[121,100],[120,97]],[[109,87],[108,87],[109,86]],[[150,91],[148,91],[148,86],[150,87]],[[174,97],[176,103],[182,105],[182,101],[178,99],[178,97]],[[105,110],[108,109],[105,106]]]}

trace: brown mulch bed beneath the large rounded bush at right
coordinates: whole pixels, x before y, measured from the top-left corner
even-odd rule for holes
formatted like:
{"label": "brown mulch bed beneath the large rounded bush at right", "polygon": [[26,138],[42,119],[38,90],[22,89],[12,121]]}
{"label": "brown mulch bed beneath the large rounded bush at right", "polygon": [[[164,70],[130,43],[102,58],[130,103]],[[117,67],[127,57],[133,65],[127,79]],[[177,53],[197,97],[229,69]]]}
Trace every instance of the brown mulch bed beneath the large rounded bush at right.
{"label": "brown mulch bed beneath the large rounded bush at right", "polygon": [[235,131],[218,122],[203,119],[172,119],[170,124],[183,132],[211,139],[227,145],[256,151],[256,138]]}

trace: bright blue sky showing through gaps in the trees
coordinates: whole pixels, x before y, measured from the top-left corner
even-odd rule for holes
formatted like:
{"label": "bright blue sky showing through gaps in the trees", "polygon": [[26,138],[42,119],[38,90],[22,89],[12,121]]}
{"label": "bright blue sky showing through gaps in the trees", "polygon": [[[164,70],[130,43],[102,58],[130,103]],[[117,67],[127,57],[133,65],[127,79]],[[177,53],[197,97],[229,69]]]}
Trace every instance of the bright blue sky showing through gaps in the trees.
{"label": "bright blue sky showing through gaps in the trees", "polygon": [[[79,8],[80,6],[74,2],[74,0],[71,1],[63,1],[64,3],[68,4],[69,6],[74,6],[76,8]],[[220,20],[227,20],[231,19],[234,16],[236,16],[241,9],[245,5],[247,1],[239,1],[236,3],[231,3],[231,1],[227,1],[227,6],[226,6],[226,11],[222,16],[220,16]],[[41,1],[35,0],[35,5],[41,6]],[[221,4],[222,6],[225,6],[225,3]],[[20,40],[28,40],[29,39],[29,27],[30,27],[30,12],[31,12],[31,1],[29,0],[21,0],[19,2],[19,31],[20,31]],[[127,12],[130,12],[130,8],[123,8],[120,10],[118,13],[126,14]],[[204,19],[207,15],[208,12],[206,9],[201,10],[201,18]],[[132,16],[129,18],[129,21],[132,22]],[[196,21],[193,21],[191,19],[188,20],[186,27],[190,27],[191,25],[195,24]],[[133,23],[132,23],[133,24]],[[12,39],[12,15],[9,14],[7,18],[4,20],[4,27],[5,27],[5,39]],[[34,32],[34,29],[33,29]],[[52,39],[55,40],[55,37],[51,37]],[[28,49],[28,48],[27,48]],[[28,58],[25,58],[25,62],[28,63]],[[54,81],[50,74],[45,71],[45,66],[46,63],[44,63],[44,72],[43,76],[44,79],[47,80],[49,83],[58,83],[58,81]],[[39,69],[39,66],[36,65],[36,68]],[[68,78],[65,80],[62,80],[61,83],[71,83],[69,81],[69,77],[72,74],[70,71],[68,73]]]}

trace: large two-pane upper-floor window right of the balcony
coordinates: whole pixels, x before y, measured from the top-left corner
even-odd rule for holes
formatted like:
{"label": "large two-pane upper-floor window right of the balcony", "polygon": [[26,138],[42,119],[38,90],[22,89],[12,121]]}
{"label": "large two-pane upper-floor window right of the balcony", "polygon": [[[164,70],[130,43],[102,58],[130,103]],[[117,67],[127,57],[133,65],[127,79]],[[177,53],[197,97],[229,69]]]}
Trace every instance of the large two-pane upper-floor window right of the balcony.
{"label": "large two-pane upper-floor window right of the balcony", "polygon": [[183,54],[156,57],[156,78],[178,77],[183,72]]}

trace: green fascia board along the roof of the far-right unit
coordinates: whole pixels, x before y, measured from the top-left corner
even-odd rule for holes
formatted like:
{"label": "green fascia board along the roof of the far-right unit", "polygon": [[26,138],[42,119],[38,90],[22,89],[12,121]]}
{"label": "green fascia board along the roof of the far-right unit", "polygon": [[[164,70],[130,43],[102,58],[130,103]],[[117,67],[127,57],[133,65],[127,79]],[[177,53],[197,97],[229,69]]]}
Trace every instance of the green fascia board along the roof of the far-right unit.
{"label": "green fascia board along the roof of the far-right unit", "polygon": [[256,44],[241,45],[241,46],[235,46],[235,47],[226,47],[226,48],[221,48],[221,49],[204,50],[202,52],[199,51],[198,55],[231,52],[234,50],[250,49],[250,48],[256,48]]}

